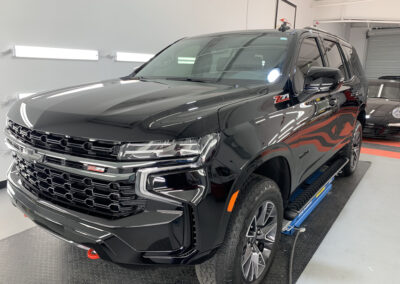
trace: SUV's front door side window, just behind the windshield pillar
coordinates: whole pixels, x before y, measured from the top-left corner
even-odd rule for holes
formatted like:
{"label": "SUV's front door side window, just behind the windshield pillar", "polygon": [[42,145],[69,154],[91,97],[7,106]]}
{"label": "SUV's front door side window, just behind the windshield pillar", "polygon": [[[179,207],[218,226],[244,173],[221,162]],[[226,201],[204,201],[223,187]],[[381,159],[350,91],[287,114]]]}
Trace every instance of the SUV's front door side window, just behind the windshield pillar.
{"label": "SUV's front door side window, just behind the windshield pillar", "polygon": [[299,92],[304,86],[304,77],[308,70],[313,67],[322,67],[321,53],[315,38],[306,38],[301,43],[299,57],[296,64],[296,74],[294,77],[296,91]]}

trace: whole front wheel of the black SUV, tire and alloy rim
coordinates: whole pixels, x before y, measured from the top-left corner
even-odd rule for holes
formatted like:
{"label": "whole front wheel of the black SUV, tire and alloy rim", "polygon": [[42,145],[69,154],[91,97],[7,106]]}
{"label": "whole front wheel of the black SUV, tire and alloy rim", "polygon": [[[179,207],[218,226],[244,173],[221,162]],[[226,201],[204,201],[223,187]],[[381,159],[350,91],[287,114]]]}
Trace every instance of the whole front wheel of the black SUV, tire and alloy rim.
{"label": "whole front wheel of the black SUV, tire and alloy rim", "polygon": [[281,235],[282,218],[277,184],[253,175],[240,191],[224,243],[212,259],[196,266],[200,283],[265,283]]}

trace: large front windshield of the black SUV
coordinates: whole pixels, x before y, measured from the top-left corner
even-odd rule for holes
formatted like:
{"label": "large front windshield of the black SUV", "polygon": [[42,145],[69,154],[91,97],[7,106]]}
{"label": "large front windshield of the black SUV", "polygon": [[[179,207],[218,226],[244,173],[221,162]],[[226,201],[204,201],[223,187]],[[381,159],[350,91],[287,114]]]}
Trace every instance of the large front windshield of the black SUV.
{"label": "large front windshield of the black SUV", "polygon": [[220,82],[272,83],[282,74],[290,35],[224,34],[173,44],[135,73],[136,77]]}

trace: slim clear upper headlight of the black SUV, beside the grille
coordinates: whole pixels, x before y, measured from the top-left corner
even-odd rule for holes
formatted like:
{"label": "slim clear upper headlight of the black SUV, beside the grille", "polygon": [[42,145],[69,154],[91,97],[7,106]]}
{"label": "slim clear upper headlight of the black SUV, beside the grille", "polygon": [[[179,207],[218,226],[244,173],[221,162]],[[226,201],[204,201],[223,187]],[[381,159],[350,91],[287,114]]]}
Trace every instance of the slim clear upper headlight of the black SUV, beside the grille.
{"label": "slim clear upper headlight of the black SUV, beside the grille", "polygon": [[219,135],[217,133],[212,133],[201,138],[128,143],[121,146],[118,159],[154,160],[195,156],[204,158],[216,146],[218,138]]}

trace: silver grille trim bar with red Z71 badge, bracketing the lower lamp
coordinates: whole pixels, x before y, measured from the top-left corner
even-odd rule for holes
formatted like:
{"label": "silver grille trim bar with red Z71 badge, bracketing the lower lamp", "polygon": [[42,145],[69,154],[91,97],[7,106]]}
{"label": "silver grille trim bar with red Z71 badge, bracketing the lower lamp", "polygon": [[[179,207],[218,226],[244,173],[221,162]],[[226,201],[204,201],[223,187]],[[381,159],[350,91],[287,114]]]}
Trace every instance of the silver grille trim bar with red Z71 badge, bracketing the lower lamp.
{"label": "silver grille trim bar with red Z71 badge, bracketing the lower lamp", "polygon": [[[87,157],[79,157],[76,155],[69,155],[65,153],[56,153],[46,149],[36,148],[20,141],[18,137],[13,136],[9,131],[6,131],[5,134],[6,145],[14,153],[15,159],[19,157],[34,164],[39,164],[42,166],[50,167],[57,171],[62,171],[71,175],[79,175],[91,179],[101,179],[108,182],[129,181],[132,183],[134,193],[136,194],[136,196],[138,196],[139,199],[152,199],[178,207],[182,206],[181,200],[174,200],[173,198],[164,197],[147,191],[146,180],[148,175],[150,173],[164,172],[169,170],[197,168],[200,167],[202,164],[201,156],[131,162],[91,159]],[[88,171],[85,169],[85,166],[87,165],[104,167],[105,172],[98,173]],[[28,191],[32,192],[32,190],[35,189],[36,188],[34,186],[31,190],[28,189]],[[54,203],[57,207],[65,207],[57,202],[53,202],[50,199],[46,199],[46,201],[44,202],[48,204]],[[66,207],[75,210],[74,208],[68,206]],[[82,210],[80,211],[82,212]]]}

